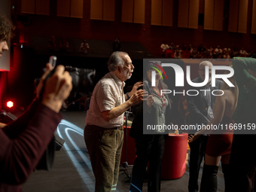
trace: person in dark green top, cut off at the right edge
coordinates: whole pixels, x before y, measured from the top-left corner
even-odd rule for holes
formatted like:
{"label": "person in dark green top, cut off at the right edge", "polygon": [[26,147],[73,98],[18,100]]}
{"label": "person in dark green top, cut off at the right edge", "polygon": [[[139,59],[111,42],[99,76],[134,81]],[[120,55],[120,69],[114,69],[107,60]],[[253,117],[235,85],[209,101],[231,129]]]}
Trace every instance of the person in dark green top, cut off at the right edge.
{"label": "person in dark green top, cut off at the right edge", "polygon": [[234,130],[230,154],[232,183],[228,192],[255,191],[256,135],[253,126],[255,127],[256,123],[256,59],[254,58],[235,57],[232,60],[236,84],[239,87],[239,98],[233,120],[237,125],[242,125],[245,134],[239,135],[240,130]]}

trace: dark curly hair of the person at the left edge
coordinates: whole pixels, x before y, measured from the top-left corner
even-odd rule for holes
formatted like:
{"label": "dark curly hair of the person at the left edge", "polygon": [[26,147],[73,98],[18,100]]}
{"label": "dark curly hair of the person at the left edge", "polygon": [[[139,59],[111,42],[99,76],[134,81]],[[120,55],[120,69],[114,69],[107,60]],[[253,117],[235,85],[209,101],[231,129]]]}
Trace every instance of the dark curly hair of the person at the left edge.
{"label": "dark curly hair of the person at the left edge", "polygon": [[5,16],[0,14],[0,41],[7,41],[14,36],[15,26]]}

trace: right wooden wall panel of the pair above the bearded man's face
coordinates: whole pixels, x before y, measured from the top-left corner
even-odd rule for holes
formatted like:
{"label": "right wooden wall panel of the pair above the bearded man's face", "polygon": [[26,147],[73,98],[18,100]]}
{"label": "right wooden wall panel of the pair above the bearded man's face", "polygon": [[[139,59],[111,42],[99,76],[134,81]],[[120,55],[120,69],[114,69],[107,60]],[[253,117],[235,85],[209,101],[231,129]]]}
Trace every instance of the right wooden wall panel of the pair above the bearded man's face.
{"label": "right wooden wall panel of the pair above the bearded man's face", "polygon": [[134,1],[133,23],[145,23],[145,0]]}

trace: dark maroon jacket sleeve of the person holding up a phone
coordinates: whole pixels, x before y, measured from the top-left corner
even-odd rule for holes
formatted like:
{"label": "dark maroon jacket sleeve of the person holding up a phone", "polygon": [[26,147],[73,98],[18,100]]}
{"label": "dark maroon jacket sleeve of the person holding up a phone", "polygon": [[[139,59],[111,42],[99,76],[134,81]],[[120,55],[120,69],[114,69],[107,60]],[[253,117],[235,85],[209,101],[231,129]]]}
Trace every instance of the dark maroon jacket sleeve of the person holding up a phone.
{"label": "dark maroon jacket sleeve of the person holding up a phone", "polygon": [[35,101],[17,120],[0,129],[0,192],[20,192],[20,184],[41,160],[61,116]]}

